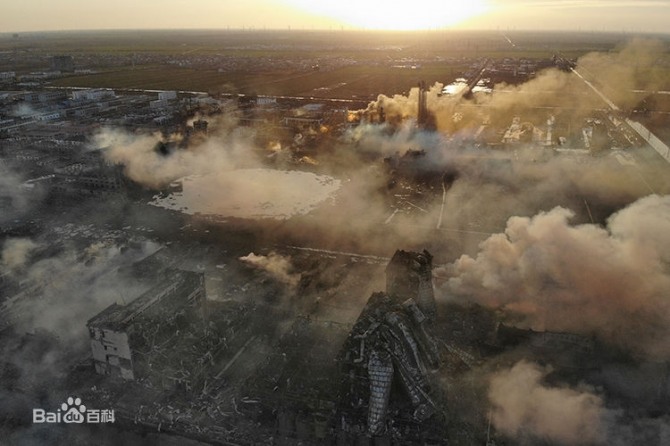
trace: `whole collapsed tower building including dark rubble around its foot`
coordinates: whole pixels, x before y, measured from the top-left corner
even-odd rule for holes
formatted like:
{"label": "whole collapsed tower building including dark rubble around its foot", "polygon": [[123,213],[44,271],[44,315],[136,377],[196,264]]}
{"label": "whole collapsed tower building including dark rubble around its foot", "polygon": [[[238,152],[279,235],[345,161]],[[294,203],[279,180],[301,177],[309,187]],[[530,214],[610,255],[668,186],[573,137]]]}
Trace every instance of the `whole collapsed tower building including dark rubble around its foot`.
{"label": "whole collapsed tower building including dark rubble around its foot", "polygon": [[386,292],[370,297],[340,353],[345,431],[410,443],[442,436],[443,411],[429,376],[440,366],[436,317],[431,254],[396,251]]}

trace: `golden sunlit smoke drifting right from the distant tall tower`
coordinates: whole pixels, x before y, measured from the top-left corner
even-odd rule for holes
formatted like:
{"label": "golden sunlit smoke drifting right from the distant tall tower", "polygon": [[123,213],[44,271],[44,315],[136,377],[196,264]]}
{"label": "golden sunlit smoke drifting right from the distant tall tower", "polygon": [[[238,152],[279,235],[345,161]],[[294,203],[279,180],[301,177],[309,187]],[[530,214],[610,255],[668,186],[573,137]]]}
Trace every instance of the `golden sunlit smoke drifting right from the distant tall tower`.
{"label": "golden sunlit smoke drifting right from the distant tall tower", "polygon": [[[667,44],[659,40],[636,38],[626,42],[618,51],[594,52],[581,57],[576,69],[620,108],[631,108],[639,100],[633,90],[655,91],[667,87],[667,76],[662,64],[658,63],[666,49]],[[472,134],[483,118],[491,124],[503,125],[515,114],[551,106],[567,109],[571,119],[579,120],[604,105],[602,99],[593,94],[581,79],[557,68],[545,69],[520,85],[499,83],[494,86],[492,95],[475,95],[471,101],[441,95],[442,87],[437,82],[428,89],[426,104],[435,118],[437,129],[452,136]],[[374,121],[383,109],[388,122],[399,123],[417,116],[418,98],[418,88],[412,88],[407,95],[379,95],[360,113]],[[463,104],[485,105],[486,108],[459,107]],[[458,113],[455,113],[456,110]],[[542,116],[533,124],[541,124],[544,120],[546,118]]]}

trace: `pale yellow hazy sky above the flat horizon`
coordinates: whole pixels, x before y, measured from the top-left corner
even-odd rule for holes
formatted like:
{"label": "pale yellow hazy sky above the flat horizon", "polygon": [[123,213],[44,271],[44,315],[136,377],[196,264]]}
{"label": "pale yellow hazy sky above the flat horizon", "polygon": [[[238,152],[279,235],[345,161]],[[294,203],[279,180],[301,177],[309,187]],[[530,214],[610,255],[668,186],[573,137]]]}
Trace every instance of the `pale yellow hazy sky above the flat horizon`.
{"label": "pale yellow hazy sky above the flat horizon", "polygon": [[670,0],[22,0],[0,32],[83,29],[566,29],[670,32]]}

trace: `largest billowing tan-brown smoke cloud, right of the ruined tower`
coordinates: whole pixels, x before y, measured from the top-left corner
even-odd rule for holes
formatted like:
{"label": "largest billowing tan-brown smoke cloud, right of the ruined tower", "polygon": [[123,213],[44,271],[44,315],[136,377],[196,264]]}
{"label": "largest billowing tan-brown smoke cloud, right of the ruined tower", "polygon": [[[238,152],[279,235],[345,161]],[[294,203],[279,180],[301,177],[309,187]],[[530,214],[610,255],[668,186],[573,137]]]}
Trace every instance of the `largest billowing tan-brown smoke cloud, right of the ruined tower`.
{"label": "largest billowing tan-brown smoke cloud, right of the ruined tower", "polygon": [[670,358],[670,196],[652,195],[603,228],[571,226],[564,208],[512,217],[476,257],[446,268],[446,295],[504,311],[536,330],[597,335]]}

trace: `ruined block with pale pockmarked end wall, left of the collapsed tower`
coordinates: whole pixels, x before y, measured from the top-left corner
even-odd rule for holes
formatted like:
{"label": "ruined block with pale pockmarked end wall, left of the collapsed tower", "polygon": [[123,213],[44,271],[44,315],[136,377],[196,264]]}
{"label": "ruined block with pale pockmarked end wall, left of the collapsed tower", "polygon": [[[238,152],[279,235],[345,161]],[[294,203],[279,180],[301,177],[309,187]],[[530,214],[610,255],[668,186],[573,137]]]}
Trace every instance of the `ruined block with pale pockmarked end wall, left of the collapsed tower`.
{"label": "ruined block with pale pockmarked end wall, left of the collapsed tower", "polygon": [[[170,340],[185,320],[204,317],[204,274],[166,270],[160,282],[127,305],[112,304],[87,323],[95,370],[133,380],[147,343]],[[149,346],[150,347],[150,346]]]}

